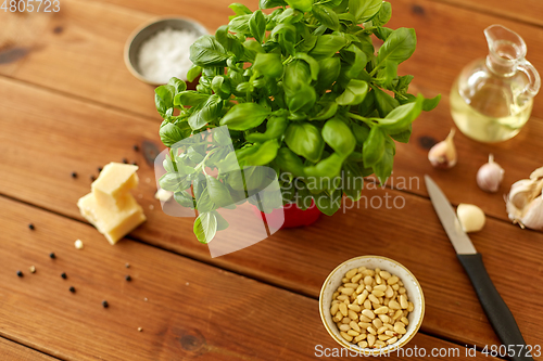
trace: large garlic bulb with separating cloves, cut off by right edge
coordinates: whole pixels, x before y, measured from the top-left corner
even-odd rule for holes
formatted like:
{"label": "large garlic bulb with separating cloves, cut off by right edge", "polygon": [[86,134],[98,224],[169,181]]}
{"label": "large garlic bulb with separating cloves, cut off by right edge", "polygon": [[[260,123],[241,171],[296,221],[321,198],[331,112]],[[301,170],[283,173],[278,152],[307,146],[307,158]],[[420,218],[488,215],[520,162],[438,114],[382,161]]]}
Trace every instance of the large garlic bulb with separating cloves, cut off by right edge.
{"label": "large garlic bulb with separating cloves, cut off by right edge", "polygon": [[507,214],[513,223],[521,228],[543,231],[543,167],[535,169],[530,179],[521,179],[510,188],[506,197]]}

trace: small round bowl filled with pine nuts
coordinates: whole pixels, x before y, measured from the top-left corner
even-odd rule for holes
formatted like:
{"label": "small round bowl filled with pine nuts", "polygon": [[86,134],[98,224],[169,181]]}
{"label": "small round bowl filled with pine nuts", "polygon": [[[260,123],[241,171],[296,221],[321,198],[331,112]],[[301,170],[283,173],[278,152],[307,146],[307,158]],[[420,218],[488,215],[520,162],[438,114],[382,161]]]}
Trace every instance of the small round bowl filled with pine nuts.
{"label": "small round bowl filled with pine nuts", "polygon": [[415,275],[381,256],[344,261],[320,289],[323,323],[342,347],[364,356],[396,351],[418,332],[425,296]]}

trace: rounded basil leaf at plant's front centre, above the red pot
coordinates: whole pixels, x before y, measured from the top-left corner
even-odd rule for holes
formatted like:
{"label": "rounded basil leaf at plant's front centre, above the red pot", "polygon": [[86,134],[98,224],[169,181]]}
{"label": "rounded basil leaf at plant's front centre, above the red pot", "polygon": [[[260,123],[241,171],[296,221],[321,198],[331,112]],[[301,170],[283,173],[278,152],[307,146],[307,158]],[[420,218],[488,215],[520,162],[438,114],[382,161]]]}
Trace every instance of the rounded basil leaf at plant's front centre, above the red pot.
{"label": "rounded basil leaf at plant's front centre, above the red pot", "polygon": [[293,123],[287,128],[285,141],[292,152],[313,163],[323,155],[325,142],[317,127],[305,123]]}

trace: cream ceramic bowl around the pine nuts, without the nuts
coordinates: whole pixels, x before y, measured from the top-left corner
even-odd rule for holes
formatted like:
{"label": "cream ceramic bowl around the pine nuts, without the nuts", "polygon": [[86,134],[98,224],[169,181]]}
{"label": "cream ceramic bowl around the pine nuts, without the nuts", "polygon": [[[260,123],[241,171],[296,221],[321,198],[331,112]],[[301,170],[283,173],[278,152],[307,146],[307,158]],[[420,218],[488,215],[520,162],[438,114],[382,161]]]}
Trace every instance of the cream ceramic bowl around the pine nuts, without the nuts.
{"label": "cream ceramic bowl around the pine nuts, without the nuts", "polygon": [[[355,344],[346,341],[341,335],[338,326],[332,321],[332,315],[330,314],[330,307],[332,301],[332,295],[342,284],[341,280],[345,276],[345,273],[354,268],[366,267],[368,269],[379,268],[382,271],[388,271],[391,274],[396,275],[404,283],[404,287],[407,293],[409,301],[414,305],[414,310],[407,317],[409,324],[405,327],[407,333],[402,336],[396,343],[383,347],[382,349],[370,349],[361,348]],[[418,332],[422,319],[425,315],[425,296],[422,294],[422,288],[418,283],[415,275],[403,265],[392,260],[390,258],[381,256],[361,256],[352,258],[344,261],[338,266],[326,279],[320,289],[319,296],[319,311],[323,323],[330,336],[342,347],[351,350],[356,350],[363,354],[378,356],[386,354],[387,352],[393,352],[399,348],[405,346]]]}

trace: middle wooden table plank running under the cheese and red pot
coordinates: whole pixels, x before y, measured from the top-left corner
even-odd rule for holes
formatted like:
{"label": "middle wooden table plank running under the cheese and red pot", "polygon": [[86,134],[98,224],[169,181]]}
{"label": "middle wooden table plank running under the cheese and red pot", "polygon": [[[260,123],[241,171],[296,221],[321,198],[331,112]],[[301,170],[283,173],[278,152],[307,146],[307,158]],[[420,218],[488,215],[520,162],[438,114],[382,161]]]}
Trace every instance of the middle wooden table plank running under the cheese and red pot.
{"label": "middle wooden table plank running under the cheese and red pot", "polygon": [[[153,199],[155,185],[146,182],[153,178],[153,169],[131,150],[143,139],[157,142],[154,124],[7,80],[0,80],[0,128],[4,129],[0,133],[2,194],[80,219],[76,202],[89,191],[89,175],[96,175],[97,167],[105,163],[127,157],[141,165],[142,181],[136,194],[142,195],[140,202],[149,218],[132,233],[135,237],[313,297],[340,262],[365,254],[383,255],[404,263],[419,278],[427,297],[426,332],[463,344],[497,343],[427,198],[370,190],[367,184],[359,209],[323,217],[305,229],[280,231],[254,246],[211,259],[207,248],[192,234],[192,219],[168,217],[159,208]],[[75,180],[70,176],[74,170],[79,175]],[[391,202],[396,197],[394,208]],[[384,204],[387,199],[391,209]],[[519,282],[542,275],[543,234],[490,219],[472,240],[527,341],[543,339],[543,331],[535,326],[542,321],[543,289]],[[505,267],[510,271],[504,271]],[[527,299],[532,310],[529,314],[525,312]]]}

